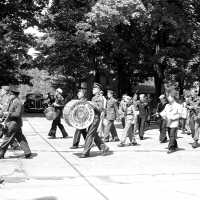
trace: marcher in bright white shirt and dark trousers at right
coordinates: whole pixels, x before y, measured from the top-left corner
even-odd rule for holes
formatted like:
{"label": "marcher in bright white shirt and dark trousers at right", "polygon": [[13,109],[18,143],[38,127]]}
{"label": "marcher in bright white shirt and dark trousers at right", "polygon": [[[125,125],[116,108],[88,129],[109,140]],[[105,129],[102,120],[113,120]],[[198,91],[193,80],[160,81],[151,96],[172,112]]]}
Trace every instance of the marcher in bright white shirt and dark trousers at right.
{"label": "marcher in bright white shirt and dark trousers at right", "polygon": [[168,104],[164,110],[160,113],[161,117],[166,120],[166,127],[169,134],[168,152],[172,153],[177,150],[177,131],[179,126],[179,119],[181,116],[181,106],[175,100],[175,90],[169,90],[166,93]]}

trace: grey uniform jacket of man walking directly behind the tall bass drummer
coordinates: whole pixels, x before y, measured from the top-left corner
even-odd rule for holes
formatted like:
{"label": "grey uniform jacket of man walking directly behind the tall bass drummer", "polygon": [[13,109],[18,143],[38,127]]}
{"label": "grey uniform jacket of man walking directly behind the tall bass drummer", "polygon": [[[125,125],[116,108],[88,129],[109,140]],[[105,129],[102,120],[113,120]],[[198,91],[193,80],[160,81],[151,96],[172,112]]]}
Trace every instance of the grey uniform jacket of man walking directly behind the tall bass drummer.
{"label": "grey uniform jacket of man walking directly behind the tall bass drummer", "polygon": [[118,116],[117,100],[113,97],[107,100],[106,104],[106,119],[115,120]]}

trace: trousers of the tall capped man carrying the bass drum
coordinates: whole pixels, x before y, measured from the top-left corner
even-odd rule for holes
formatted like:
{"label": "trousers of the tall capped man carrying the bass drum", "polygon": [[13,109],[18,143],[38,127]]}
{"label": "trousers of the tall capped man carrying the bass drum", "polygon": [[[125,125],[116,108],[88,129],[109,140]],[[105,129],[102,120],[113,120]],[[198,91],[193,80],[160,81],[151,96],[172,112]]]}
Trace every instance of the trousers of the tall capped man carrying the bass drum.
{"label": "trousers of the tall capped man carrying the bass drum", "polygon": [[95,115],[92,124],[88,128],[87,136],[85,139],[85,147],[83,150],[84,155],[89,155],[90,150],[93,146],[93,141],[95,142],[99,150],[101,150],[102,148],[106,146],[104,142],[102,141],[102,139],[99,137],[98,132],[97,132],[99,122],[100,122],[100,117],[98,115]]}

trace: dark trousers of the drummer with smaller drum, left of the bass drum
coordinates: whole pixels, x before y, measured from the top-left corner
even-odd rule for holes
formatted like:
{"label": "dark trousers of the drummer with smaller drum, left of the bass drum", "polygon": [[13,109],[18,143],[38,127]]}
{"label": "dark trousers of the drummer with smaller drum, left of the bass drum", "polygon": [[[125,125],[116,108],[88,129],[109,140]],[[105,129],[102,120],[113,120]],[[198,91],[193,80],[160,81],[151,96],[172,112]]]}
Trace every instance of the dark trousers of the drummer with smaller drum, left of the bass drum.
{"label": "dark trousers of the drummer with smaller drum, left of the bass drum", "polygon": [[58,117],[56,117],[56,119],[53,120],[52,125],[51,125],[51,129],[49,131],[49,136],[53,136],[53,137],[56,136],[57,126],[60,129],[63,137],[67,137],[68,136],[68,133],[66,132],[64,126],[61,124],[61,119],[60,118],[61,118],[61,116],[59,115]]}

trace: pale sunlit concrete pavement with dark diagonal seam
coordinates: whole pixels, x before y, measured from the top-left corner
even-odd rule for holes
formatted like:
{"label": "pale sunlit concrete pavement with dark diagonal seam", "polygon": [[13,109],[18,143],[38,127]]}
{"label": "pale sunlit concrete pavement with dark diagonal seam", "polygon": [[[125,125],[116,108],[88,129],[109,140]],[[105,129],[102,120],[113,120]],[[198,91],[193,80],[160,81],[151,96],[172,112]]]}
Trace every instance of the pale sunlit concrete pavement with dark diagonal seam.
{"label": "pale sunlit concrete pavement with dark diagonal seam", "polygon": [[149,130],[136,147],[109,143],[110,155],[94,147],[90,158],[80,159],[82,148],[69,149],[74,130],[66,126],[70,138],[50,140],[50,126],[37,115],[24,118],[35,157],[26,160],[22,151],[9,151],[0,160],[1,200],[200,199],[200,148],[192,149],[190,136],[179,134],[180,150],[169,155],[158,131]]}

